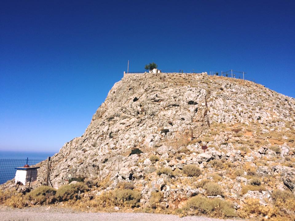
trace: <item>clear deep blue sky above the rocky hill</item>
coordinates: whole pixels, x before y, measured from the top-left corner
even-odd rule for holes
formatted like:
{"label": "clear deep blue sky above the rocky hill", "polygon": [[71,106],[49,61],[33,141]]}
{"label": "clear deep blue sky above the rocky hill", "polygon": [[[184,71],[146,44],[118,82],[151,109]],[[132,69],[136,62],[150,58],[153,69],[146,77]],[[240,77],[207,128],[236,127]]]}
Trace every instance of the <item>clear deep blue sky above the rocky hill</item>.
{"label": "clear deep blue sky above the rocky hill", "polygon": [[167,71],[247,72],[295,97],[294,1],[3,1],[0,150],[58,151],[112,85]]}

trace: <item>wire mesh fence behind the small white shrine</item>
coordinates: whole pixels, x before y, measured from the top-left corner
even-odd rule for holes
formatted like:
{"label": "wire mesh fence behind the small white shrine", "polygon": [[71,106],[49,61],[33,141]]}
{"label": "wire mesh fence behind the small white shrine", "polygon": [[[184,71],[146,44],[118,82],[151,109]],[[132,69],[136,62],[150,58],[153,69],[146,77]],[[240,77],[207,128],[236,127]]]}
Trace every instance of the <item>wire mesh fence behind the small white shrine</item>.
{"label": "wire mesh fence behind the small white shrine", "polygon": [[[0,184],[5,183],[8,180],[14,178],[16,167],[23,167],[24,165],[29,165],[30,167],[36,166],[42,160],[31,160],[31,159],[0,159]],[[37,174],[40,179],[46,179],[46,169],[41,166],[37,169]]]}

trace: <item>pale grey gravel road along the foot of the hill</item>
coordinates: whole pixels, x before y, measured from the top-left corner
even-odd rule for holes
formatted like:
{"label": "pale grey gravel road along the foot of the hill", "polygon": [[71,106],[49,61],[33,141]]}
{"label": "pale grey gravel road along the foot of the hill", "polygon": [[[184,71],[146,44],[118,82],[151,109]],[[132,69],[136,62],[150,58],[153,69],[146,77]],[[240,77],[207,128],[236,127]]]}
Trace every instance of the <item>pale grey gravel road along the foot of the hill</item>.
{"label": "pale grey gravel road along the foot of the hill", "polygon": [[[24,209],[0,208],[2,221],[221,221],[201,216],[186,216],[153,213],[86,213],[58,207],[29,207]],[[226,221],[237,221],[226,219]]]}

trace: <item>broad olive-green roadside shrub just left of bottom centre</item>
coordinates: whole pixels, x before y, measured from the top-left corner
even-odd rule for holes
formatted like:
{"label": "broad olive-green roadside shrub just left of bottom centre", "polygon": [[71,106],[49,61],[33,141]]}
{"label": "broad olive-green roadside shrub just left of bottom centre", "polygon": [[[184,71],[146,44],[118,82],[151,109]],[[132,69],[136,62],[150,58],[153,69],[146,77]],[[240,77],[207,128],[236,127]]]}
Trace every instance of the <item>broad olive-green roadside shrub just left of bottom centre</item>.
{"label": "broad olive-green roadside shrub just left of bottom centre", "polygon": [[117,206],[138,207],[141,194],[130,189],[117,189],[114,191],[114,199]]}

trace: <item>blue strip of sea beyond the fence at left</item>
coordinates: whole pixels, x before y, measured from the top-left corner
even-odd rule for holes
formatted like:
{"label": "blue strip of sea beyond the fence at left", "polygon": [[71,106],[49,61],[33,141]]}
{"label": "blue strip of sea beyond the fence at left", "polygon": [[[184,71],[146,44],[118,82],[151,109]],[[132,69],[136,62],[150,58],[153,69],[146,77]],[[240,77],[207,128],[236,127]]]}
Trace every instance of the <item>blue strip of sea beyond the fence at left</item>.
{"label": "blue strip of sea beyond the fence at left", "polygon": [[11,180],[15,176],[15,167],[22,167],[26,164],[33,165],[47,157],[52,157],[54,152],[22,152],[22,151],[2,151],[0,150],[0,184]]}

